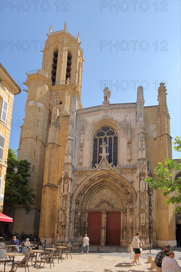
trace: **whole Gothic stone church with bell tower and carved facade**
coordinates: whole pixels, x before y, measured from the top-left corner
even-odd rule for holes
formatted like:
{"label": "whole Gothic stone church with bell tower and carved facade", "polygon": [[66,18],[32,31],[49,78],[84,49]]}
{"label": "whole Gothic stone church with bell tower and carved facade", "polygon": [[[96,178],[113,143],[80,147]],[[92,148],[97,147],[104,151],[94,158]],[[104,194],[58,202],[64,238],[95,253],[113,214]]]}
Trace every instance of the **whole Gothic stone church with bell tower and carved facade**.
{"label": "whole Gothic stone church with bell tower and carved facade", "polygon": [[133,103],[112,104],[105,88],[101,105],[82,108],[80,35],[65,23],[47,36],[42,69],[27,73],[29,127],[21,128],[18,151],[31,162],[37,199],[29,215],[16,208],[13,229],[59,241],[88,233],[90,244],[122,246],[140,231],[146,244],[176,245],[173,207],[144,181],[172,158],[164,84],[155,106],[144,107],[138,87]]}

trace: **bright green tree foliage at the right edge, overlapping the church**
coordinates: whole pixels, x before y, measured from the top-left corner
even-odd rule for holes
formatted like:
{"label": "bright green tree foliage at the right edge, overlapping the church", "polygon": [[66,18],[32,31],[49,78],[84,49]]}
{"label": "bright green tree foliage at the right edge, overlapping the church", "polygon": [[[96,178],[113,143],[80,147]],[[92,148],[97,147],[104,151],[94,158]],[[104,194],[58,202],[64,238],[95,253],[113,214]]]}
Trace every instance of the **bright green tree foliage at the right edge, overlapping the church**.
{"label": "bright green tree foliage at the right edge, overlapping the church", "polygon": [[[181,138],[177,136],[174,142],[174,149],[181,152]],[[175,213],[181,212],[181,177],[178,177],[176,181],[172,180],[172,170],[181,171],[181,159],[172,160],[165,159],[164,165],[159,162],[158,166],[155,168],[155,174],[157,178],[145,179],[145,181],[150,184],[151,189],[159,189],[162,191],[164,196],[168,196],[165,204],[178,204],[175,208]],[[180,172],[181,173],[181,172]],[[175,190],[177,190],[177,195],[172,195]]]}

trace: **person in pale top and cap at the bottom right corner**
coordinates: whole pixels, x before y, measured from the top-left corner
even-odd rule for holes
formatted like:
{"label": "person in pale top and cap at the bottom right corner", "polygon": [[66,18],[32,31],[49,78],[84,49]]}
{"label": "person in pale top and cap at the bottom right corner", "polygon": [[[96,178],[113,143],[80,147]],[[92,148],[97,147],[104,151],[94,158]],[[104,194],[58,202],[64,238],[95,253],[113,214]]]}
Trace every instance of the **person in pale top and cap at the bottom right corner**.
{"label": "person in pale top and cap at the bottom right corner", "polygon": [[162,271],[163,272],[181,272],[181,268],[178,262],[174,260],[174,252],[169,251],[166,253],[166,257],[162,260]]}

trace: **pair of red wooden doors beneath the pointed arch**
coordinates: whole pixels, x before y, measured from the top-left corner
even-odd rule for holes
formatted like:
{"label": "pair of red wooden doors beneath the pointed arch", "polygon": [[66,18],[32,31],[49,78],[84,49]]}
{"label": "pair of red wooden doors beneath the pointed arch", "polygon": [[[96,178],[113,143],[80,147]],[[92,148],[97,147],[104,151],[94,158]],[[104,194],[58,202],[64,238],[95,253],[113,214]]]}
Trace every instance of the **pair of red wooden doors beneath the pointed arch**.
{"label": "pair of red wooden doors beneath the pointed arch", "polygon": [[88,214],[88,236],[91,245],[100,245],[101,235],[105,235],[106,245],[120,245],[121,213],[107,213],[106,222],[101,213]]}

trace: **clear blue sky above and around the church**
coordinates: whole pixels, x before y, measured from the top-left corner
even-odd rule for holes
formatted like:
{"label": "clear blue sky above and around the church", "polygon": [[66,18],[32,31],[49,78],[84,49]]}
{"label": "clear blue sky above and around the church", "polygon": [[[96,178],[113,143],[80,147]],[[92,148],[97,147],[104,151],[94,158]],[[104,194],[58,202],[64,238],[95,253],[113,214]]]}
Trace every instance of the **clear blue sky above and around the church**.
{"label": "clear blue sky above and around the church", "polygon": [[[159,83],[167,84],[171,136],[181,135],[181,1],[1,0],[1,63],[26,89],[26,73],[42,67],[44,41],[63,29],[81,34],[84,49],[82,105],[136,102],[144,88],[145,106],[157,105]],[[35,42],[36,41],[36,42]],[[115,46],[114,46],[115,45]],[[115,86],[116,85],[116,86]],[[136,87],[136,88],[135,88]],[[27,93],[14,99],[9,146],[18,148]],[[179,154],[173,150],[173,158]]]}

